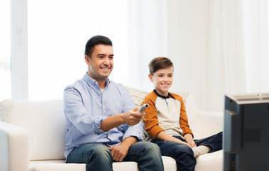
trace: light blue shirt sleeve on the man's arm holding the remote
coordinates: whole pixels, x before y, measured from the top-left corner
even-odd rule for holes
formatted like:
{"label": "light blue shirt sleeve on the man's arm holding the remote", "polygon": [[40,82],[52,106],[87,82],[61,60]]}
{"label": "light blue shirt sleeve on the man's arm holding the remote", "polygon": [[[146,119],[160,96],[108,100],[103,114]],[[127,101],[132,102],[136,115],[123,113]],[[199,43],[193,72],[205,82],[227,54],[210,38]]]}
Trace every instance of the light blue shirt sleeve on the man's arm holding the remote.
{"label": "light blue shirt sleeve on the man's arm holding the remote", "polygon": [[80,133],[100,135],[105,132],[100,129],[100,125],[107,117],[89,115],[83,105],[80,93],[72,86],[65,88],[63,93],[63,109],[65,116]]}

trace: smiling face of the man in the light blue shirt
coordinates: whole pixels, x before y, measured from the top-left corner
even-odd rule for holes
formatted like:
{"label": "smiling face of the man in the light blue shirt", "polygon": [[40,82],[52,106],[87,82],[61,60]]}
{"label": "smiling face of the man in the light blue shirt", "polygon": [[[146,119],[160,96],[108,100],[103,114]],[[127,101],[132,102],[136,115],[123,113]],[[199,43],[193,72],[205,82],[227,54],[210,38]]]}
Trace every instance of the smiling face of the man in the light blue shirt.
{"label": "smiling face of the man in the light blue shirt", "polygon": [[113,69],[113,48],[109,45],[96,45],[92,57],[85,56],[88,64],[88,75],[96,81],[104,81]]}

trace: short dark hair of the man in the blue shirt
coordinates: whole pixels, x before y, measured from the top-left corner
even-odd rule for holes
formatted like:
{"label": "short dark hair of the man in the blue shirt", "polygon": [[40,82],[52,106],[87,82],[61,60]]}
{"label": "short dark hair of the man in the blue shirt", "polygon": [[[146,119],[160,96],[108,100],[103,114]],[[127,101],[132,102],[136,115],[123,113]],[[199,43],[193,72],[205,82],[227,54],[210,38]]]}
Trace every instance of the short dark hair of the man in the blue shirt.
{"label": "short dark hair of the man in the blue shirt", "polygon": [[95,47],[95,45],[99,44],[112,46],[112,41],[110,41],[110,38],[107,38],[105,36],[93,36],[86,43],[85,56],[89,56],[91,58],[93,54],[93,48]]}

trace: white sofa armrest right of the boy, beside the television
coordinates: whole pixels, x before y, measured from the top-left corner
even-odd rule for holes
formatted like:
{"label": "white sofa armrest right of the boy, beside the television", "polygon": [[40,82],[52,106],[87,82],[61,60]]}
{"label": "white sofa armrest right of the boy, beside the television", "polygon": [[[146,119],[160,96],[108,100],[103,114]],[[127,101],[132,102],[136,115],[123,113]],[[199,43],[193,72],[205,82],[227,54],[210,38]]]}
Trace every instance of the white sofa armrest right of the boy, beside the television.
{"label": "white sofa armrest right of the boy, beside the television", "polygon": [[223,131],[223,113],[198,110],[201,137],[206,138]]}

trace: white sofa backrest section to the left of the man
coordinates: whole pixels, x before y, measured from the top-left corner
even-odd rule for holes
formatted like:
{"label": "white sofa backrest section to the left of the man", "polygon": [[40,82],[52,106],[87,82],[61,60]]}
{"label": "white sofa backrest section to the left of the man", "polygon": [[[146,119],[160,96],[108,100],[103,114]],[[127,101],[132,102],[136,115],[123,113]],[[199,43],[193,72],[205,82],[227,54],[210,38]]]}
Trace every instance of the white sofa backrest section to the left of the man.
{"label": "white sofa backrest section to the left of the man", "polygon": [[3,100],[0,103],[0,120],[29,131],[30,160],[65,158],[63,100]]}

